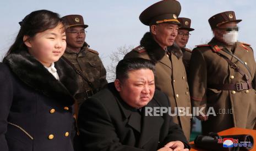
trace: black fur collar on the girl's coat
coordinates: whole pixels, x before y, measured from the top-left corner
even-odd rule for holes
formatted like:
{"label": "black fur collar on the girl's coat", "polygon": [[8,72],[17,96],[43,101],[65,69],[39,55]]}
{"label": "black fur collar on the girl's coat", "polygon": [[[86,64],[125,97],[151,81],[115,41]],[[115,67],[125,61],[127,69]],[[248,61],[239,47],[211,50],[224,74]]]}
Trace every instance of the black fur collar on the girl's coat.
{"label": "black fur collar on the girl's coat", "polygon": [[78,90],[77,74],[63,59],[55,62],[59,81],[47,69],[31,56],[28,51],[19,51],[8,55],[3,62],[7,63],[17,77],[31,88],[42,94],[55,98],[63,105],[74,103],[74,94]]}

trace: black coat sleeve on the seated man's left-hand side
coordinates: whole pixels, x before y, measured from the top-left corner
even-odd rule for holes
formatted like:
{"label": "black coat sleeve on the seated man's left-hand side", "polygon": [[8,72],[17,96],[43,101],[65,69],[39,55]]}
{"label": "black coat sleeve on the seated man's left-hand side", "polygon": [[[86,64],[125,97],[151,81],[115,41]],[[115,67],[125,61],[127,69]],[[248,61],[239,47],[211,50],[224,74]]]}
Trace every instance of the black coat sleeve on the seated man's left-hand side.
{"label": "black coat sleeve on the seated man's left-hand side", "polygon": [[78,127],[81,144],[85,150],[143,151],[143,149],[123,145],[119,141],[110,115],[97,98],[89,98],[80,107]]}

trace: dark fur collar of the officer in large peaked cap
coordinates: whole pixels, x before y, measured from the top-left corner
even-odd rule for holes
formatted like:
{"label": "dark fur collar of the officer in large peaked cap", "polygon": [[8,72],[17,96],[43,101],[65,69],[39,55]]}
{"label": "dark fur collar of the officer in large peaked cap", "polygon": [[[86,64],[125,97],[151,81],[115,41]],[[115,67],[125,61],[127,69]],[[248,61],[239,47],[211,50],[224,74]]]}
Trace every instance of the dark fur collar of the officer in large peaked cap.
{"label": "dark fur collar of the officer in large peaked cap", "polygon": [[[140,40],[140,45],[146,49],[150,59],[154,62],[161,60],[162,57],[165,56],[165,51],[152,38],[150,32],[146,32],[144,34],[143,38]],[[168,47],[168,51],[176,55],[178,59],[181,58],[183,55],[181,49],[179,49],[179,47],[176,44],[173,44],[172,46]]]}

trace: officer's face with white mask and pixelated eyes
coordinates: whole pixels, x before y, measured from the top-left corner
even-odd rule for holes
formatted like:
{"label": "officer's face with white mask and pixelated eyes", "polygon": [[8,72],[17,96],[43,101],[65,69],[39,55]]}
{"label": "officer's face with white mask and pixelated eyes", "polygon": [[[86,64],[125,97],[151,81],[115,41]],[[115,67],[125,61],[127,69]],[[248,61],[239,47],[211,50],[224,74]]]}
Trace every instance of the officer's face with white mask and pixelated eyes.
{"label": "officer's face with white mask and pixelated eyes", "polygon": [[238,34],[238,26],[236,22],[227,22],[213,30],[215,38],[226,44],[232,44],[236,40]]}

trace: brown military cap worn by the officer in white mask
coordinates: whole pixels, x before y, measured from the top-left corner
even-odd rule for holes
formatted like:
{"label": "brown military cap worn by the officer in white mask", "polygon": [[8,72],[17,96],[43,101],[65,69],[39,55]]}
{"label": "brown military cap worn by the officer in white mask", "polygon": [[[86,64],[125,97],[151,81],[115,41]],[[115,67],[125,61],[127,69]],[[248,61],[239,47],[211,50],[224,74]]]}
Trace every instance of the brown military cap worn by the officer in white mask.
{"label": "brown military cap worn by the officer in white mask", "polygon": [[211,16],[211,18],[208,21],[211,26],[211,29],[214,29],[227,22],[240,22],[242,20],[236,19],[234,11],[225,11],[214,16]]}

